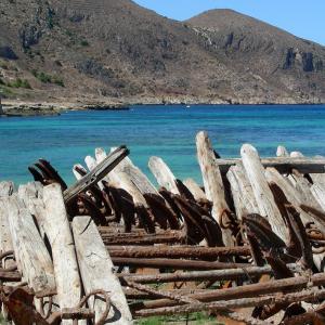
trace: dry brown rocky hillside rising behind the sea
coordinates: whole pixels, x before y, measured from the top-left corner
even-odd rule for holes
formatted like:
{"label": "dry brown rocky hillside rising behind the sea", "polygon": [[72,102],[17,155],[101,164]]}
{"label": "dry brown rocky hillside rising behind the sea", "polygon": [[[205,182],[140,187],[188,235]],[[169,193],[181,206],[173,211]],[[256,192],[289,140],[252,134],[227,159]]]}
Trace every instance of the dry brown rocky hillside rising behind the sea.
{"label": "dry brown rocky hillside rising behind the sea", "polygon": [[229,10],[1,0],[0,88],[49,102],[324,103],[325,48]]}

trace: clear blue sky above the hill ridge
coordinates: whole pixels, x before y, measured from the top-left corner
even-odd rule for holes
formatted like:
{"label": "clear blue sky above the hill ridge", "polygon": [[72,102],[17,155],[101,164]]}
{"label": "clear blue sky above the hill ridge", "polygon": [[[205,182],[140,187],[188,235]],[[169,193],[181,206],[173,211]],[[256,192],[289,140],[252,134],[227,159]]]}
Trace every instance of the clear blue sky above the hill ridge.
{"label": "clear blue sky above the hill ridge", "polygon": [[209,9],[229,8],[299,37],[325,44],[325,0],[135,0],[157,13],[183,21]]}

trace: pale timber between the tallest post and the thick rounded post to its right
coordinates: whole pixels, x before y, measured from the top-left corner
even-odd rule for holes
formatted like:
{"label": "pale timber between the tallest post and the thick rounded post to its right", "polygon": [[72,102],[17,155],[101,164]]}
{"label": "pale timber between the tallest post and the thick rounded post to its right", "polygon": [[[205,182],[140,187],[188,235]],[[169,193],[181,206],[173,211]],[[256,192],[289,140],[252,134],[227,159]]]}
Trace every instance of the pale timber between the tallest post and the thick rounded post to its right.
{"label": "pale timber between the tallest post and the thick rounded post to its right", "polygon": [[232,166],[226,173],[226,178],[231,184],[237,218],[242,220],[243,216],[247,213],[258,213],[259,208],[243,165],[238,162]]}

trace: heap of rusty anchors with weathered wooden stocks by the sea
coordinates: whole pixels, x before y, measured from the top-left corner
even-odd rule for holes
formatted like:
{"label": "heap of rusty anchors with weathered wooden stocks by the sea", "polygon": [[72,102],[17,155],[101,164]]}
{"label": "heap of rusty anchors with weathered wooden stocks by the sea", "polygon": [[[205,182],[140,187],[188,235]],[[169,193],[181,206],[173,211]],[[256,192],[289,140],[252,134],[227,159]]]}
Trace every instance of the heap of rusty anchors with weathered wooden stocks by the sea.
{"label": "heap of rusty anchors with weathered wooden stocks by the sea", "polygon": [[15,324],[132,324],[209,312],[225,324],[325,323],[325,158],[249,144],[222,159],[196,138],[204,186],[161,158],[157,190],[122,146],[75,165],[40,159],[0,183],[2,312]]}

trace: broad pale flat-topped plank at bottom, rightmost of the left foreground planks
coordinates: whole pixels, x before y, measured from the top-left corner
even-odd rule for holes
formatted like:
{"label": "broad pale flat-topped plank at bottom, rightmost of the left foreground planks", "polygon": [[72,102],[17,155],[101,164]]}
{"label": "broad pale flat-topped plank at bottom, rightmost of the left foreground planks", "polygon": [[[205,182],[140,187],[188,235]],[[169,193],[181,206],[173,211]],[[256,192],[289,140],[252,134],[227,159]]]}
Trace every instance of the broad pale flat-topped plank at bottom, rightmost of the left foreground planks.
{"label": "broad pale flat-topped plank at bottom, rightmost of the left foreground planks", "polygon": [[[132,324],[132,315],[117,276],[113,273],[114,264],[90,217],[76,217],[73,232],[80,273],[86,294],[101,289],[108,292],[113,308],[108,314],[109,324]],[[95,311],[98,321],[105,303],[101,299],[91,299],[89,307]]]}

